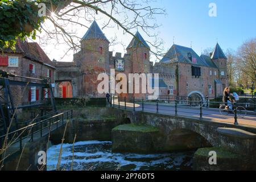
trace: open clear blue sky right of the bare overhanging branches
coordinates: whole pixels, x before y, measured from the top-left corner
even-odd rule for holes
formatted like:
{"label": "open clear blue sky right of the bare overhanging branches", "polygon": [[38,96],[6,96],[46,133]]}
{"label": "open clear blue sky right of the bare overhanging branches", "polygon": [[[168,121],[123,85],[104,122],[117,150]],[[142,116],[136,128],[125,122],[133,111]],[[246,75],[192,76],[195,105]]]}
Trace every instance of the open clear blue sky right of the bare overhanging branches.
{"label": "open clear blue sky right of the bare overhanging branches", "polygon": [[[166,18],[159,18],[161,38],[170,47],[175,43],[201,49],[218,43],[224,49],[236,50],[243,42],[256,36],[255,0],[160,0],[167,10]],[[217,17],[210,17],[209,3],[216,3]]]}

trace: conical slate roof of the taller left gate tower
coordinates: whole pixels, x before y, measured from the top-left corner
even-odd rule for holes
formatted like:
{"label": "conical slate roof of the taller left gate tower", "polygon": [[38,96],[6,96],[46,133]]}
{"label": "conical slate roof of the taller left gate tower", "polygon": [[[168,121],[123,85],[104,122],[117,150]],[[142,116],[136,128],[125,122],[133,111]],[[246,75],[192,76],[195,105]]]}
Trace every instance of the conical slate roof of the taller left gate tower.
{"label": "conical slate roof of the taller left gate tower", "polygon": [[[84,40],[89,40],[89,39],[101,39],[101,40],[106,40],[109,42],[109,40],[106,38],[106,36],[103,34],[101,31],[101,28],[98,26],[98,23],[96,20],[92,23],[86,34],[82,37]],[[109,42],[110,43],[110,42]]]}

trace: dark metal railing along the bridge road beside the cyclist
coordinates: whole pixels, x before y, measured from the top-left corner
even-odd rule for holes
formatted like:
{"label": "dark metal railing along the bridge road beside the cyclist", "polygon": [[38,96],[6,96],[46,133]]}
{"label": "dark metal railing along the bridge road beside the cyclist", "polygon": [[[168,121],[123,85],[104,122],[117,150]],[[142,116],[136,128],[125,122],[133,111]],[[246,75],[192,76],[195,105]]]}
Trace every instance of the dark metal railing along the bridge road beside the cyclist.
{"label": "dark metal railing along the bridge road beside the cyclist", "polygon": [[[220,112],[221,111],[232,111],[231,114],[233,114],[233,118],[234,118],[234,125],[238,125],[238,118],[242,118],[238,116],[238,111],[237,111],[237,107],[238,106],[245,106],[247,103],[243,103],[243,102],[234,102],[234,103],[224,103],[224,102],[212,102],[209,99],[206,99],[204,101],[189,101],[189,100],[137,100],[133,97],[131,102],[127,102],[127,98],[120,98],[118,96],[113,96],[112,99],[113,103],[111,104],[111,106],[113,105],[113,107],[115,107],[115,105],[118,105],[118,109],[122,107],[122,109],[127,109],[127,104],[129,103],[129,110],[133,110],[133,111],[145,111],[145,105],[147,105],[147,110],[148,111],[155,111],[156,113],[160,113],[160,111],[166,111],[166,112],[171,112],[174,115],[179,115],[178,113],[187,113],[187,114],[198,114],[197,117],[199,117],[200,119],[203,119],[204,115],[212,115],[212,114],[207,114],[207,113],[203,113],[203,111],[208,110],[208,111],[215,111],[215,112]],[[121,106],[121,100],[122,102],[122,106]],[[118,103],[115,104],[115,101],[117,101]],[[161,105],[161,103],[163,105]],[[233,106],[233,110],[226,110],[226,109],[220,109],[220,105],[228,105],[231,104]],[[136,106],[139,105],[139,106]],[[251,104],[254,105],[254,104]],[[160,106],[166,106],[166,107],[160,107]],[[216,106],[215,108],[210,107],[210,106]],[[255,107],[256,105],[254,105]],[[172,109],[174,108],[174,109]],[[183,110],[181,110],[183,109]],[[193,111],[186,111],[185,109],[193,109]],[[197,112],[195,111],[197,110]],[[249,112],[250,114],[256,115],[256,111],[248,111],[248,110],[244,110],[241,112]],[[214,113],[216,114],[216,113]],[[227,115],[222,115],[223,117],[228,117]],[[230,117],[229,117],[230,118]],[[246,118],[249,119],[249,118]],[[251,119],[249,119],[251,120]],[[253,119],[253,121],[256,121],[256,116],[255,119]]]}

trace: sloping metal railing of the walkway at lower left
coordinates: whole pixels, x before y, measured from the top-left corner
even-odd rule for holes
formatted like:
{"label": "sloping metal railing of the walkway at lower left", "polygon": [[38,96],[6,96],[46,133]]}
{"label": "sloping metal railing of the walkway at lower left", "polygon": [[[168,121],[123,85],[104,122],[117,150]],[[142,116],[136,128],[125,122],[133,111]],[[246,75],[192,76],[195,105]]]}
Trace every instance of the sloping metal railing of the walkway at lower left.
{"label": "sloping metal railing of the walkway at lower left", "polygon": [[[57,115],[52,115],[51,117],[47,119],[43,119],[40,122],[31,121],[32,123],[30,125],[27,125],[25,127],[22,127],[21,129],[12,131],[10,133],[7,133],[5,135],[2,135],[0,137],[0,149],[3,146],[6,146],[8,144],[9,146],[18,143],[19,142],[19,151],[22,151],[22,140],[28,139],[30,137],[30,141],[34,141],[34,137],[44,137],[44,133],[48,134],[51,130],[52,125],[55,125],[55,130],[59,127],[63,126],[65,123],[65,119],[72,119],[73,118],[73,110],[65,111],[64,113],[60,113]],[[34,122],[34,123],[33,123]],[[47,132],[47,128],[49,129],[49,132]],[[36,135],[40,133],[40,135]],[[5,145],[4,145],[5,143]],[[2,148],[2,150],[5,150],[5,148]]]}

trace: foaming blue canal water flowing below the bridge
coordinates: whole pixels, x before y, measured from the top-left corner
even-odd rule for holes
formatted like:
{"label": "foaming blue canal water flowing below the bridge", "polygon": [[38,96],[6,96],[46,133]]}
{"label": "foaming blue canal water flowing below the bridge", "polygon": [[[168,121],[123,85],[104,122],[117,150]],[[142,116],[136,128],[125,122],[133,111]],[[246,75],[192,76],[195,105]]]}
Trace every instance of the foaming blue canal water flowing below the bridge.
{"label": "foaming blue canal water flowing below the bridge", "polygon": [[[61,144],[47,151],[47,170],[56,170]],[[192,170],[195,151],[164,154],[131,154],[112,152],[112,142],[86,141],[63,144],[60,169],[75,171],[147,171]]]}

